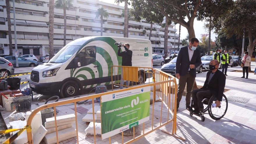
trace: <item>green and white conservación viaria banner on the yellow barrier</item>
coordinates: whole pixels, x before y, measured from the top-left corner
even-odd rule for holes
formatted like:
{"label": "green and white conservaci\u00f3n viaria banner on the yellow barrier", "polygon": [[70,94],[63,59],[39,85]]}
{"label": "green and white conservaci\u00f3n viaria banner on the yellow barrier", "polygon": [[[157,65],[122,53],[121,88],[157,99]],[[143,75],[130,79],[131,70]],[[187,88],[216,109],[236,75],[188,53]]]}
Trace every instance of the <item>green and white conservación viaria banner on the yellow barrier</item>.
{"label": "green and white conservaci\u00f3n viaria banner on the yellow barrier", "polygon": [[102,96],[102,139],[149,120],[150,87]]}

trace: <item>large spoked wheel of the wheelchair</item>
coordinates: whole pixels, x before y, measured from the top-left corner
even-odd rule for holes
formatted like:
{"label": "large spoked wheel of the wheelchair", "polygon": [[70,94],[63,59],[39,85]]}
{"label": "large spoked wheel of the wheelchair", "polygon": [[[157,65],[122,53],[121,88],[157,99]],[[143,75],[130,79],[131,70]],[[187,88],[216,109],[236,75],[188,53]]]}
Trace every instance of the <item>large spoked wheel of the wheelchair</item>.
{"label": "large spoked wheel of the wheelchair", "polygon": [[227,112],[227,97],[223,94],[221,105],[217,108],[212,108],[211,105],[214,104],[216,100],[217,98],[215,96],[210,98],[208,104],[208,113],[212,119],[220,120]]}

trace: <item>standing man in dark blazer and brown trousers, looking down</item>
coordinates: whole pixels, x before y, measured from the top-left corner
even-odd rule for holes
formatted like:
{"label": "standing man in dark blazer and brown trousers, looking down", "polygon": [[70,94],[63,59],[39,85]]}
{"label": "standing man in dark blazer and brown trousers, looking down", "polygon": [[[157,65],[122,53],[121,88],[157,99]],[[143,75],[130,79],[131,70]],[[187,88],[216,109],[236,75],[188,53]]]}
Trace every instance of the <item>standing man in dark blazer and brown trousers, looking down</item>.
{"label": "standing man in dark blazer and brown trousers, looking down", "polygon": [[177,110],[186,84],[186,109],[189,110],[190,108],[190,98],[196,77],[196,67],[202,63],[200,50],[197,49],[198,43],[197,38],[191,38],[189,45],[179,50],[176,61],[176,78],[179,79]]}

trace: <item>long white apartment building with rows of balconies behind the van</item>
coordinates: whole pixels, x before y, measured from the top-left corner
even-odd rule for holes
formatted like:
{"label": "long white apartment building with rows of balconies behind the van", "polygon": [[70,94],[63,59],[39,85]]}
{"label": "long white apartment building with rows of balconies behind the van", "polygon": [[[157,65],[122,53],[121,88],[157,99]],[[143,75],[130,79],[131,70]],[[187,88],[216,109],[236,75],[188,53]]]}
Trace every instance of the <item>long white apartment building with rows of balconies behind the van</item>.
{"label": "long white apartment building with rows of balconies behind the van", "polygon": [[[15,0],[17,45],[19,55],[34,54],[44,56],[49,54],[48,24],[49,24],[49,0]],[[13,2],[11,6],[13,53],[15,54],[14,26],[13,26]],[[105,3],[98,0],[74,0],[74,8],[67,10],[67,35],[66,43],[77,38],[87,36],[100,36],[100,19],[95,18],[98,8],[103,7],[109,13],[104,18],[103,36],[123,37],[124,18],[121,17],[123,6]],[[9,54],[8,22],[6,19],[5,0],[0,1],[0,55]],[[162,24],[153,24],[151,42],[153,52],[163,53],[164,28]],[[168,48],[173,49],[178,34],[173,28],[168,27]],[[76,30],[75,30],[76,29]],[[64,19],[63,10],[54,8],[54,53],[63,47]],[[75,33],[77,35],[75,35]],[[129,38],[149,39],[150,24],[145,20],[140,22],[129,19]]]}

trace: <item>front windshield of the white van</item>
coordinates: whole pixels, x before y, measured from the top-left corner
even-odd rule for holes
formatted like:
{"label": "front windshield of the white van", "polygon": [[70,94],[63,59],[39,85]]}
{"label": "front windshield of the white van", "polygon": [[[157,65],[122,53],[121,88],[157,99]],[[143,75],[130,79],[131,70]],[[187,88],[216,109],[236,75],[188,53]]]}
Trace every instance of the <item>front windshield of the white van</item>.
{"label": "front windshield of the white van", "polygon": [[50,63],[64,63],[75,52],[77,52],[80,47],[80,45],[66,45],[53,58],[51,58]]}

